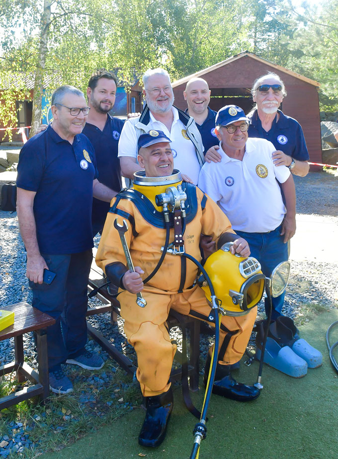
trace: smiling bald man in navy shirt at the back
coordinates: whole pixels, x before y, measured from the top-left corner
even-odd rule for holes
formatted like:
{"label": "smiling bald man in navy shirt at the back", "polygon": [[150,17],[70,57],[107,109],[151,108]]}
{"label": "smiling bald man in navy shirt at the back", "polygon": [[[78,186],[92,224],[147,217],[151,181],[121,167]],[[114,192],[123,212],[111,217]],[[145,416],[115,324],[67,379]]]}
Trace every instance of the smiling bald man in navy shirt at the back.
{"label": "smiling bald man in navy shirt at the back", "polygon": [[208,83],[203,78],[192,78],[186,84],[183,96],[188,105],[185,112],[194,118],[206,154],[210,147],[219,144],[215,134],[216,111],[208,107],[210,102]]}

